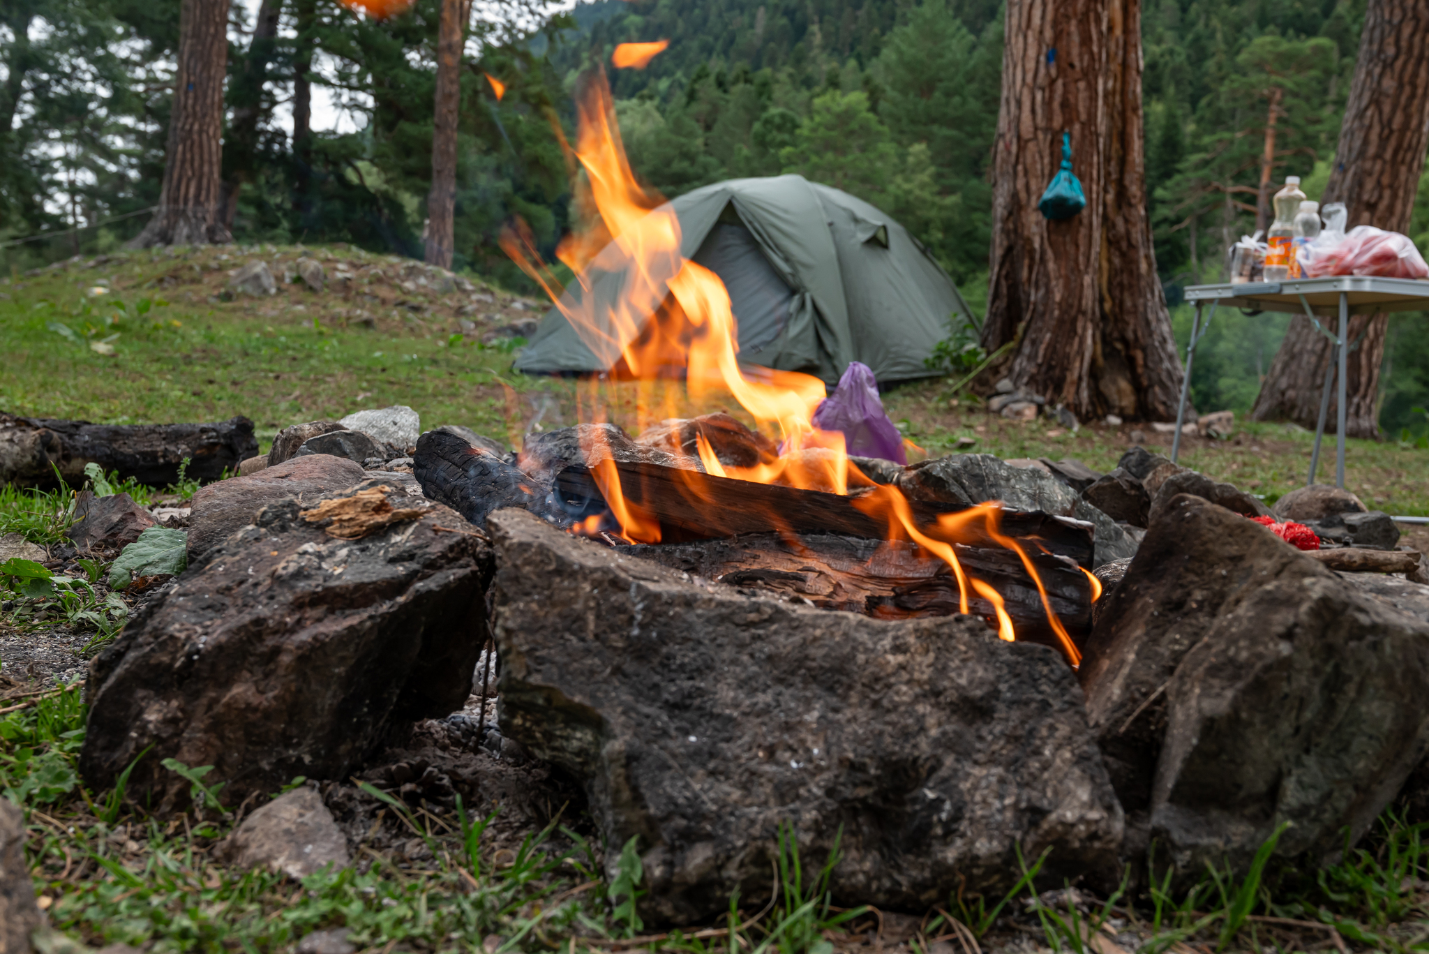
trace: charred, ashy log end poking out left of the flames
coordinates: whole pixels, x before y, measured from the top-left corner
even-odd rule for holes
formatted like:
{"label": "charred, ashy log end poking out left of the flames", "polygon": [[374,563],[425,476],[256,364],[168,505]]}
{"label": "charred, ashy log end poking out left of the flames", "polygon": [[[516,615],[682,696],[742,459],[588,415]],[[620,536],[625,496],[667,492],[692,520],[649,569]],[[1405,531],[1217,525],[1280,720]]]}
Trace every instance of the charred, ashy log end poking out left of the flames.
{"label": "charred, ashy log end poking out left of the flames", "polygon": [[506,506],[570,522],[547,501],[549,488],[486,448],[446,431],[427,431],[417,438],[412,471],[427,499],[446,503],[477,526],[486,526],[487,513]]}

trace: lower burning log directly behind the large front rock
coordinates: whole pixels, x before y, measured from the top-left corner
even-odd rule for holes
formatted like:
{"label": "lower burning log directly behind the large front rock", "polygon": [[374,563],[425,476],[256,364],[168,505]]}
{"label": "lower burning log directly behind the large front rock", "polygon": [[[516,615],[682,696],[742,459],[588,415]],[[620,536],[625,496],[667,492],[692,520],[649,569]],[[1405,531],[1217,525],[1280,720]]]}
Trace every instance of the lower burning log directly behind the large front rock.
{"label": "lower burning log directly behind the large front rock", "polygon": [[[822,609],[859,612],[875,619],[950,616],[960,611],[957,579],[936,555],[907,542],[836,533],[749,533],[689,544],[616,546],[670,569],[739,589],[807,599]],[[1060,651],[1036,584],[1007,549],[956,545],[963,572],[990,584],[1012,618],[1017,638]],[[1052,609],[1072,641],[1082,645],[1092,629],[1092,585],[1069,559],[1037,552],[1033,566]],[[969,611],[996,628],[989,601],[969,592]]]}

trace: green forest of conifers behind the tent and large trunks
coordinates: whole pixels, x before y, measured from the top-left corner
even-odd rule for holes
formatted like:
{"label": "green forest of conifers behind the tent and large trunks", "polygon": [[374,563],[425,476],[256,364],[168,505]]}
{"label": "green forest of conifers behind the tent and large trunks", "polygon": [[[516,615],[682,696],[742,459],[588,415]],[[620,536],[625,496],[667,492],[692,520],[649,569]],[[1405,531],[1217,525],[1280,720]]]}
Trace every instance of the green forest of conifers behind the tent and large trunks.
{"label": "green forest of conifers behind the tent and large trunks", "polygon": [[[573,96],[614,44],[666,39],[612,70],[632,166],[664,196],[799,172],[883,207],[986,305],[1003,11],[992,0],[546,0],[477,6],[463,60],[454,267],[520,287],[500,252],[520,216],[550,259],[569,227]],[[1319,197],[1355,70],[1363,0],[1162,0],[1143,10],[1146,203],[1185,343],[1180,289],[1225,273],[1255,229],[1278,100],[1273,182]],[[263,13],[277,30],[256,30]],[[224,210],[234,240],[349,242],[422,257],[437,0],[379,21],[333,0],[234,3]],[[0,4],[0,270],[134,236],[157,205],[179,3]],[[486,74],[504,84],[497,97]],[[356,122],[294,129],[314,89]],[[1075,160],[1075,157],[1073,157]],[[1410,235],[1429,249],[1429,166]],[[40,236],[36,239],[34,236]],[[1429,419],[1425,315],[1390,319],[1380,426]],[[1198,349],[1202,410],[1249,410],[1289,320],[1226,318]],[[957,329],[950,329],[956,332]]]}

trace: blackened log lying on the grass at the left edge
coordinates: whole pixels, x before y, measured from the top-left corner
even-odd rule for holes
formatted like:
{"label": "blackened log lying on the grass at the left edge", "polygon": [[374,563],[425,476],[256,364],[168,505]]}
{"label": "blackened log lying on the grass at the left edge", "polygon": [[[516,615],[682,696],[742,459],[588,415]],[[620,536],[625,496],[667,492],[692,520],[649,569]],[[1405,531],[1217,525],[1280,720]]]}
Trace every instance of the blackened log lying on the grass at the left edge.
{"label": "blackened log lying on the grass at the left edge", "polygon": [[103,425],[0,413],[0,481],[17,486],[54,486],[56,468],[66,483],[77,485],[86,463],[117,471],[120,479],[163,486],[179,479],[184,458],[186,478],[217,481],[257,452],[253,422],[243,416],[213,423]]}

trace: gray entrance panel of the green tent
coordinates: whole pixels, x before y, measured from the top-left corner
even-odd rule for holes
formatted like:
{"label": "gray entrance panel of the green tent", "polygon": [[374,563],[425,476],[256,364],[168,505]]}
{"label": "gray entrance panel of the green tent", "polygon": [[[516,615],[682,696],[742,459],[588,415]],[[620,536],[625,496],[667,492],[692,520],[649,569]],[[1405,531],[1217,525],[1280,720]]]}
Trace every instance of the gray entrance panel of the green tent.
{"label": "gray entrance panel of the green tent", "polygon": [[783,333],[795,292],[769,265],[749,229],[719,222],[693,259],[725,283],[739,323],[739,350],[757,352]]}

